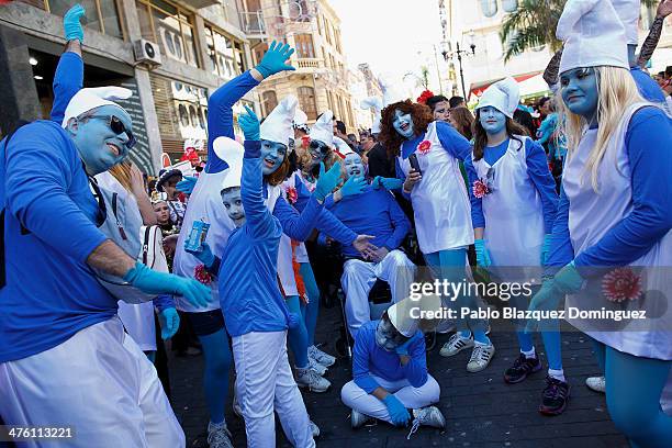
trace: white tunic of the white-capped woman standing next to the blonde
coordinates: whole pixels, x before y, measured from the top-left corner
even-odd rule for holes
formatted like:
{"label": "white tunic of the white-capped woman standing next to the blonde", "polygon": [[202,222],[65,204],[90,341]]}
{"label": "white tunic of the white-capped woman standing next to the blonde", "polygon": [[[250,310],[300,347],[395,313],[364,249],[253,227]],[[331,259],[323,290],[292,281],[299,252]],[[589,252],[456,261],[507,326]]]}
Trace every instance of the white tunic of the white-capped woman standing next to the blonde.
{"label": "white tunic of the white-capped woman standing next to the blonde", "polygon": [[527,173],[525,142],[529,137],[517,137],[524,143],[511,138],[506,153],[494,165],[485,158],[473,161],[479,179],[488,180],[492,189],[482,199],[483,239],[492,260],[488,270],[499,280],[538,283],[542,273],[544,209]]}

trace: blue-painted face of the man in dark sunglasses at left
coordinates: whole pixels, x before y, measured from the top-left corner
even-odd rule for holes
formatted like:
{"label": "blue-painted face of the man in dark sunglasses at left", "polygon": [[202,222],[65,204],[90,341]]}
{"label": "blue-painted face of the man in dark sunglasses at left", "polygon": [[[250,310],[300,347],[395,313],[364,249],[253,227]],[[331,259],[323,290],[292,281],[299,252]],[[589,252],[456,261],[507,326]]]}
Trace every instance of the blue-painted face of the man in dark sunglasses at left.
{"label": "blue-painted face of the man in dark sunglasses at left", "polygon": [[[125,130],[133,128],[131,116],[115,105],[103,105],[87,113],[90,116],[74,119],[67,125],[79,156],[91,176],[104,172],[121,163],[130,148],[131,141],[126,132],[117,134],[120,123]],[[112,124],[112,121],[115,123]]]}

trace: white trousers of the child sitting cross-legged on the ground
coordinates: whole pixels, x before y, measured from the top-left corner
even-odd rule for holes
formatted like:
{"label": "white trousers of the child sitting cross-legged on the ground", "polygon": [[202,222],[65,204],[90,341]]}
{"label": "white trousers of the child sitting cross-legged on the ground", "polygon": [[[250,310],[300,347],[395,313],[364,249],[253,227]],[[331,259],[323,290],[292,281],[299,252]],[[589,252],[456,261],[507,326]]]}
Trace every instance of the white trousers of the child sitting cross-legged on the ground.
{"label": "white trousers of the child sitting cross-legged on the ground", "polygon": [[[388,381],[372,376],[381,388],[399,399],[408,410],[419,410],[439,401],[441,390],[438,382],[427,374],[427,381],[419,388],[414,388],[407,380]],[[376,396],[350,381],[340,390],[340,401],[346,406],[373,418],[392,423],[385,404]]]}

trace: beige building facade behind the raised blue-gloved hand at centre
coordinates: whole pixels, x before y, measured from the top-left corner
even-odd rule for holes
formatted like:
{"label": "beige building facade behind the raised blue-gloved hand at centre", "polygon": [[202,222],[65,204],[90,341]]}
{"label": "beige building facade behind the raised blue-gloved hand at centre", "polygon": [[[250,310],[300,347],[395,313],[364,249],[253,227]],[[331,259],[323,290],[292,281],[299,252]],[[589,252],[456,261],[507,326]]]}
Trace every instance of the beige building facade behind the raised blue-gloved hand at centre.
{"label": "beige building facade behind the raised blue-gloved hand at centre", "polygon": [[[268,114],[288,94],[299,99],[309,117],[332,110],[346,124],[348,133],[358,127],[349,91],[349,75],[340,42],[340,19],[327,0],[247,0],[249,11],[257,7],[264,15],[268,41],[281,41],[295,48],[290,63],[295,71],[266,80],[256,94],[261,113]],[[255,61],[264,55],[266,43],[254,47]]]}

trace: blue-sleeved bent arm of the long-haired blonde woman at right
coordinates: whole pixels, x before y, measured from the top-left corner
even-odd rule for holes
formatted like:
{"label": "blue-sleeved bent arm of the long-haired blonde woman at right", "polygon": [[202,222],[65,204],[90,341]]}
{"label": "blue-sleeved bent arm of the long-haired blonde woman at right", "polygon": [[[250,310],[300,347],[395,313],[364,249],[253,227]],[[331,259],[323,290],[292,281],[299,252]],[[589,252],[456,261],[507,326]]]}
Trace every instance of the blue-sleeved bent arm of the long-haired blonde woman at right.
{"label": "blue-sleeved bent arm of the long-haired blonde woman at right", "polygon": [[657,108],[642,109],[630,120],[625,142],[632,211],[579,254],[576,267],[629,265],[672,228],[672,122]]}

